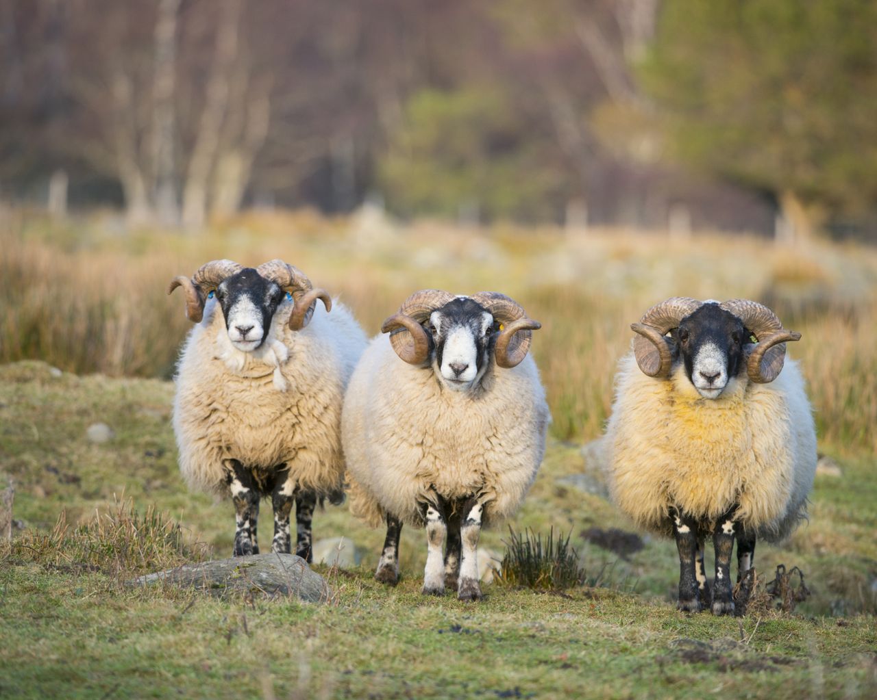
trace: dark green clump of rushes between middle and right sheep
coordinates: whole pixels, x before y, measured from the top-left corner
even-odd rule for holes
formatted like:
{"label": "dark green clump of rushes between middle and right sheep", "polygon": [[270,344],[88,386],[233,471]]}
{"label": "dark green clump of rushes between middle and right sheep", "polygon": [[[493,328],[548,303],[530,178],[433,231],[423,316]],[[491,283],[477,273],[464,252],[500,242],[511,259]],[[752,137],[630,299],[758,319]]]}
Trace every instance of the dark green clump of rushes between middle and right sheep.
{"label": "dark green clump of rushes between middle and right sheep", "polygon": [[516,533],[509,528],[509,535],[498,576],[502,583],[536,590],[562,590],[585,583],[585,569],[569,546],[569,534],[566,538],[555,535],[552,527],[545,541],[532,530]]}

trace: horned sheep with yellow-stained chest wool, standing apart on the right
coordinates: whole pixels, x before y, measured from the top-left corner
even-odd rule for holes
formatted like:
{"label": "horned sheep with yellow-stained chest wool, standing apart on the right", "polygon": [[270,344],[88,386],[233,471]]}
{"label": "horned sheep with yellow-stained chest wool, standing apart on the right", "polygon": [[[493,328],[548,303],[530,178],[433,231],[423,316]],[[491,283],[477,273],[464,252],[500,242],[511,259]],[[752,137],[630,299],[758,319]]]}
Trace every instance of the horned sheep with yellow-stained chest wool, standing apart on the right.
{"label": "horned sheep with yellow-stained chest wool, standing apart on the right", "polygon": [[[805,517],[816,473],[816,431],[801,372],[774,313],[747,300],[674,297],[631,328],[603,441],[612,497],[638,526],[674,534],[679,607],[709,605],[703,541],[711,534],[711,607],[733,611],[755,541],[777,541]],[[669,334],[669,335],[667,335]]]}

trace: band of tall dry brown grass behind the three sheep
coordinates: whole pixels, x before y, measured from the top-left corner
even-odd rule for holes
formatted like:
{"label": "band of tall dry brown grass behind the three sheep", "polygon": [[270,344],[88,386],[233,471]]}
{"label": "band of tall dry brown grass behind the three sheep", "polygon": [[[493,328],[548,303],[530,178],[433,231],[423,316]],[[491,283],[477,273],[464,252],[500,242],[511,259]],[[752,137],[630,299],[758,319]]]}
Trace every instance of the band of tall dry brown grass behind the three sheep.
{"label": "band of tall dry brown grass behind the three sheep", "polygon": [[418,288],[503,291],[543,322],[533,353],[553,431],[576,440],[600,433],[617,359],[645,308],[674,294],[745,296],[804,334],[790,353],[802,359],[822,439],[839,451],[873,449],[877,252],[869,249],[629,230],[401,228],[302,212],[239,217],[196,236],[22,217],[0,230],[0,250],[0,361],[36,357],[80,373],[169,377],[188,322],[166,286],[212,258],[284,258],[338,293],[367,333]]}

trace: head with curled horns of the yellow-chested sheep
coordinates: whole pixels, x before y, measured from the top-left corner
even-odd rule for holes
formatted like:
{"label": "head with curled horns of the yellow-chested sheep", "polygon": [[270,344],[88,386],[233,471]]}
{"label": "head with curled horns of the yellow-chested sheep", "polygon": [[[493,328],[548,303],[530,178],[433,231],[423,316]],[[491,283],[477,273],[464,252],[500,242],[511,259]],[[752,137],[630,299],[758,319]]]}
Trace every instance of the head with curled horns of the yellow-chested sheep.
{"label": "head with curled horns of the yellow-chested sheep", "polygon": [[755,301],[718,303],[673,297],[645,312],[631,325],[639,369],[667,378],[681,359],[688,380],[705,399],[717,399],[729,380],[745,367],[757,384],[780,375],[789,341],[800,333],[783,329],[769,308]]}

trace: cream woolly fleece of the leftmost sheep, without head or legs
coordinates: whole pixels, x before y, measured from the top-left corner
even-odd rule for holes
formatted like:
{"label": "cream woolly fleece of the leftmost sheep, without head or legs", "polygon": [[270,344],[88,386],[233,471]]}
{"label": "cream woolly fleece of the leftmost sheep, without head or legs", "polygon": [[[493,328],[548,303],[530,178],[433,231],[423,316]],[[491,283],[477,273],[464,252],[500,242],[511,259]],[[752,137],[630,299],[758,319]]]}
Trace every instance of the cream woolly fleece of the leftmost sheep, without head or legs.
{"label": "cream woolly fleece of the leftmost sheep, without head or legs", "polygon": [[193,488],[227,493],[229,460],[256,470],[286,464],[296,485],[326,495],[344,481],[340,425],[344,391],[367,340],[347,309],[317,304],[290,330],[291,301],[277,308],[265,343],[232,346],[216,301],[182,349],[174,430],[180,470]]}

